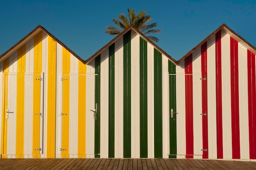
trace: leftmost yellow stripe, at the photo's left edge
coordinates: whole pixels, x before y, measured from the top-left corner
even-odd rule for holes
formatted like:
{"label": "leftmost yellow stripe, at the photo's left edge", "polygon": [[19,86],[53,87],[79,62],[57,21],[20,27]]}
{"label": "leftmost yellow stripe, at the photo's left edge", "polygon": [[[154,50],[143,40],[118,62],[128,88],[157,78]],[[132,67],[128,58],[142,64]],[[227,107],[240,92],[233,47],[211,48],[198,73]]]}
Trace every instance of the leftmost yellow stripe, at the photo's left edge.
{"label": "leftmost yellow stripe, at the photo's left edge", "polygon": [[[9,72],[9,58],[4,60],[3,62],[3,72],[8,73]],[[7,119],[5,119],[6,116],[6,109],[8,108],[8,74],[3,74],[3,95],[2,95],[2,140],[1,140],[1,154],[2,158],[7,158]]]}

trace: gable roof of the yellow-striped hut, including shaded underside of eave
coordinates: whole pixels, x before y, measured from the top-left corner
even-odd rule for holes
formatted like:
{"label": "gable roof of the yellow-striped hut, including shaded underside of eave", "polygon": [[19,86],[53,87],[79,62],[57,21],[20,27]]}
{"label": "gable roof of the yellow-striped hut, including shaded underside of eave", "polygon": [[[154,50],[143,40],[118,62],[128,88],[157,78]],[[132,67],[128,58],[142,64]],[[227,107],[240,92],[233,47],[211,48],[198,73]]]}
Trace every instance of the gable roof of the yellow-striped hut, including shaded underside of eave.
{"label": "gable roof of the yellow-striped hut, including shaded underside of eave", "polygon": [[67,51],[69,51],[71,54],[73,54],[78,60],[81,62],[84,62],[84,60],[76,55],[72,50],[67,48],[65,44],[63,44],[60,40],[58,40],[56,37],[54,37],[51,33],[49,33],[43,26],[36,26],[35,29],[33,29],[30,33],[28,33],[24,38],[22,38],[19,42],[17,42],[14,46],[12,46],[9,50],[5,51],[2,55],[0,55],[0,62],[4,61],[6,58],[8,58],[14,51],[18,50],[21,46],[26,44],[31,38],[33,38],[35,35],[37,35],[40,31],[45,32],[47,35],[49,35],[52,39],[54,39],[56,42],[61,44]]}

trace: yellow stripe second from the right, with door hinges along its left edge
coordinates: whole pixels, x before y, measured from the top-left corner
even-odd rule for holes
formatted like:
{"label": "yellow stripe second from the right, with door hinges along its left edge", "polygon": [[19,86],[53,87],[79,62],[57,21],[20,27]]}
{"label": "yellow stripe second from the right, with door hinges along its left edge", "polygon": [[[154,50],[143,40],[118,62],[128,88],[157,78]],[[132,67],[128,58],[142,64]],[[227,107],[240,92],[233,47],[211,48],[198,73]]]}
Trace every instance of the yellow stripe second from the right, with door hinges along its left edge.
{"label": "yellow stripe second from the right, with door hinges along its left edge", "polygon": [[[70,52],[62,48],[62,72],[70,73]],[[70,129],[70,76],[63,75],[63,108],[62,108],[62,158],[69,158],[69,129]]]}

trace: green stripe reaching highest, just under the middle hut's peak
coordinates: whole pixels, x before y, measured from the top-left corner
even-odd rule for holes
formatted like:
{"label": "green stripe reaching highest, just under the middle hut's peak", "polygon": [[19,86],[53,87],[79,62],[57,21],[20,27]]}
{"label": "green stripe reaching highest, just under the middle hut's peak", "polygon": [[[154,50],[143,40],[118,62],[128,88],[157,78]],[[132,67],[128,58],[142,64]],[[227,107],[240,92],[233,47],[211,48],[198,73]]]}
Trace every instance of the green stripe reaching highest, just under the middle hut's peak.
{"label": "green stripe reaching highest, just under the middle hut's peak", "polygon": [[124,35],[124,158],[131,157],[131,31]]}

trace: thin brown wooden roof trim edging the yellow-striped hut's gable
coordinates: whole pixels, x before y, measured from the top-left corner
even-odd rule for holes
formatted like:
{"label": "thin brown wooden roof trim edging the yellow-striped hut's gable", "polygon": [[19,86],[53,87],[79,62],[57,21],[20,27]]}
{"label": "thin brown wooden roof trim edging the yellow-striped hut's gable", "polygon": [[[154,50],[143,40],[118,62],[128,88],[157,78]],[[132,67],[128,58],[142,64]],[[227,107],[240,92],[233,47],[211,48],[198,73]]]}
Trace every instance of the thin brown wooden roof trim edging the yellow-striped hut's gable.
{"label": "thin brown wooden roof trim edging the yellow-striped hut's gable", "polygon": [[76,53],[74,53],[72,50],[70,50],[67,46],[65,46],[65,44],[63,44],[60,40],[58,40],[56,37],[54,37],[51,33],[49,33],[43,26],[38,25],[36,26],[35,29],[33,29],[30,33],[28,33],[24,38],[22,38],[19,42],[17,42],[15,45],[13,45],[9,50],[5,51],[2,55],[0,55],[0,60],[2,59],[2,57],[4,57],[5,55],[7,55],[12,49],[14,49],[16,46],[18,46],[19,44],[21,44],[23,41],[25,41],[30,35],[32,35],[33,33],[35,33],[38,29],[41,29],[43,32],[45,32],[47,35],[49,35],[52,39],[54,39],[56,42],[58,42],[59,44],[61,44],[61,46],[63,46],[67,51],[69,51],[72,55],[74,55],[78,60],[80,60],[81,62],[84,62],[84,60],[79,57],[78,55],[76,55]]}

